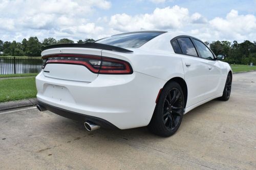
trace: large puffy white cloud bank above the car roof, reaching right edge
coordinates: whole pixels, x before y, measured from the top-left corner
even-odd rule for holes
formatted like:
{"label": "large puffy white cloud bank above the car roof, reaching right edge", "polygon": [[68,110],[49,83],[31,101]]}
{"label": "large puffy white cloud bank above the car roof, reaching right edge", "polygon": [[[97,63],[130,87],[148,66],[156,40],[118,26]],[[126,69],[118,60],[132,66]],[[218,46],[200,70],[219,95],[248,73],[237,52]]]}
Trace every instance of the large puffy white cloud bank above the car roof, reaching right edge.
{"label": "large puffy white cloud bank above the car roof, reaching right edge", "polygon": [[109,25],[119,32],[183,31],[204,41],[256,39],[256,17],[249,14],[239,15],[236,10],[231,10],[225,18],[215,17],[207,20],[197,12],[189,15],[188,9],[179,6],[156,8],[151,14],[115,14],[111,16]]}

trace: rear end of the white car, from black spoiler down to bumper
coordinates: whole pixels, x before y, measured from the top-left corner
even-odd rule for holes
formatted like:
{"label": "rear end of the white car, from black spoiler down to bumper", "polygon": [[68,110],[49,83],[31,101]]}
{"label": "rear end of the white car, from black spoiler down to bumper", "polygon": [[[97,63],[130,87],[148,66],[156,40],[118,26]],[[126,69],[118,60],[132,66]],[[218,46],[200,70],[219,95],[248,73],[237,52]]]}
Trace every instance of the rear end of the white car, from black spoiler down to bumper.
{"label": "rear end of the white car, from black spoiler down to bumper", "polygon": [[95,44],[56,45],[42,51],[45,64],[36,77],[39,105],[102,127],[146,126],[164,82],[137,72],[136,54],[127,48]]}

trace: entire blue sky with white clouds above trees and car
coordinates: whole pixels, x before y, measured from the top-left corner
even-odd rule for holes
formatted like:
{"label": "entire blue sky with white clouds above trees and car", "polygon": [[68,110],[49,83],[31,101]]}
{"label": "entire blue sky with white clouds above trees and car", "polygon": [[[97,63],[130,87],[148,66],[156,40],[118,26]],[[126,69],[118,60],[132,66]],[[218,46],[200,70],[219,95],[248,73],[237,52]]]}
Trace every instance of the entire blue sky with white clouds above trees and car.
{"label": "entire blue sky with white clouds above trees and car", "polygon": [[0,39],[103,38],[179,31],[204,41],[256,41],[256,0],[0,0]]}

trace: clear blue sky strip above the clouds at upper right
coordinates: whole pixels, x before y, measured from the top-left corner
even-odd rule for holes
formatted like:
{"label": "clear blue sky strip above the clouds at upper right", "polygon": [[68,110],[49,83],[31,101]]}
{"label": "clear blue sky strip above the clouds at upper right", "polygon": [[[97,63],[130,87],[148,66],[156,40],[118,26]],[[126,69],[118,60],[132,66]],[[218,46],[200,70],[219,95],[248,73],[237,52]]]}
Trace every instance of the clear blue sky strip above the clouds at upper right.
{"label": "clear blue sky strip above the clouds at upper right", "polygon": [[[111,1],[112,9],[101,13],[102,15],[107,14],[109,16],[116,13],[127,13],[129,15],[151,13],[155,8],[164,8],[167,6],[178,5],[183,8],[189,9],[190,13],[199,12],[206,16],[208,19],[214,17],[225,17],[228,12],[232,9],[238,10],[241,14],[253,14],[256,13],[256,1],[238,1],[238,0],[216,0],[216,1],[202,1],[202,0],[173,0],[164,1],[164,3],[153,3],[151,1]],[[136,6],[136,8],[135,8]]]}

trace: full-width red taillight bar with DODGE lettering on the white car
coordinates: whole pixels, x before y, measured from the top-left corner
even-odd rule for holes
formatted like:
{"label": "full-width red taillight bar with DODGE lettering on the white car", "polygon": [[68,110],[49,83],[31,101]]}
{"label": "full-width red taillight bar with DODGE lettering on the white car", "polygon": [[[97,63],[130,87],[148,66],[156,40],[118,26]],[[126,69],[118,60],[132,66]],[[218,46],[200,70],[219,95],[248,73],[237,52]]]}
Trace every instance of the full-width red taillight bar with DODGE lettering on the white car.
{"label": "full-width red taillight bar with DODGE lettering on the white car", "polygon": [[61,54],[44,56],[46,63],[42,66],[45,68],[46,64],[61,63],[61,64],[77,64],[86,66],[90,71],[96,74],[132,74],[133,69],[129,62],[93,55],[76,55],[76,54]]}

